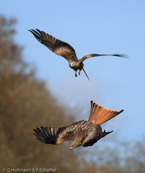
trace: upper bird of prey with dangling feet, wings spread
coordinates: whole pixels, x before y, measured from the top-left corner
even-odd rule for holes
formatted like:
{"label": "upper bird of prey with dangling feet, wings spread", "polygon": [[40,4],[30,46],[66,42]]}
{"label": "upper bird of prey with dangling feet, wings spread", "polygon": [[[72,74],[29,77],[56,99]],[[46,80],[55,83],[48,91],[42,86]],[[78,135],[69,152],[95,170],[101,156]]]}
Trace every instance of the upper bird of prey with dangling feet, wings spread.
{"label": "upper bird of prey with dangling feet, wings spread", "polygon": [[35,36],[35,38],[40,43],[44,44],[52,52],[64,57],[68,61],[70,68],[72,68],[75,71],[76,77],[77,77],[77,70],[79,70],[79,73],[78,73],[79,75],[80,75],[80,71],[83,70],[85,75],[89,79],[86,71],[84,70],[84,64],[83,64],[83,61],[87,58],[91,58],[95,56],[124,57],[123,54],[95,54],[94,53],[94,54],[85,55],[83,58],[78,59],[74,48],[70,46],[68,43],[58,40],[55,37],[45,33],[44,31],[40,31],[39,29],[36,29],[36,30],[31,29],[29,31]]}

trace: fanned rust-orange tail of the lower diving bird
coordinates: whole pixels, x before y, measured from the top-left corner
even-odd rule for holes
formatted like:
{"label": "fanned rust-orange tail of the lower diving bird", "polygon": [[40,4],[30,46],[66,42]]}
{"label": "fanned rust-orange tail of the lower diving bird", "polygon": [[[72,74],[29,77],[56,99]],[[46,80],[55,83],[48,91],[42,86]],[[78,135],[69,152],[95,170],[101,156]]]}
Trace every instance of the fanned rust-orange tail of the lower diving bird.
{"label": "fanned rust-orange tail of the lower diving bird", "polygon": [[89,122],[93,122],[94,124],[103,124],[106,121],[114,118],[124,110],[115,111],[111,109],[104,108],[103,106],[99,106],[98,104],[91,101],[91,111]]}

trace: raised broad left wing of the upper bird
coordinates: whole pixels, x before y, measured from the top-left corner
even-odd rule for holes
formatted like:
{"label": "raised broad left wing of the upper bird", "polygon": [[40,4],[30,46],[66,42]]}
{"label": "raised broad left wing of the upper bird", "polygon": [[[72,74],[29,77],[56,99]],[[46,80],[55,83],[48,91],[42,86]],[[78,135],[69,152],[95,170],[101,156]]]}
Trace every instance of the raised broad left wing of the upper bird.
{"label": "raised broad left wing of the upper bird", "polygon": [[40,43],[44,44],[57,55],[64,57],[68,62],[77,60],[75,50],[68,43],[58,40],[55,37],[40,31],[39,29],[31,29],[29,31]]}

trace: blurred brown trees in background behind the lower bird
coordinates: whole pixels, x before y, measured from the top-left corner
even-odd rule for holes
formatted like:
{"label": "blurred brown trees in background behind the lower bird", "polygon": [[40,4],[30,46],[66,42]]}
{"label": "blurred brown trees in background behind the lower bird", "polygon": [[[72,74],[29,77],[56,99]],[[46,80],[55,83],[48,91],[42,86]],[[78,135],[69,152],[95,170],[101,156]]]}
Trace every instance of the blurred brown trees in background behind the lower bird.
{"label": "blurred brown trees in background behind the lower bird", "polygon": [[99,142],[91,150],[80,147],[73,151],[67,142],[53,146],[35,140],[33,128],[68,125],[75,116],[57,104],[45,83],[23,60],[22,47],[14,40],[15,23],[15,19],[0,15],[0,168],[54,168],[61,173],[145,172],[145,138],[132,144],[109,136],[114,147]]}

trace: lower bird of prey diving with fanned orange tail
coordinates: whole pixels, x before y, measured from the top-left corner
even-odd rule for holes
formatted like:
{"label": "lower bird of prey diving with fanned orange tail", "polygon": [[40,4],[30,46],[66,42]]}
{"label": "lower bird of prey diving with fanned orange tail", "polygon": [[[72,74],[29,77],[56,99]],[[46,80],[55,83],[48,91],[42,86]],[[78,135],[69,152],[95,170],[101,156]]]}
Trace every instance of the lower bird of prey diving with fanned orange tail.
{"label": "lower bird of prey diving with fanned orange tail", "polygon": [[101,128],[101,124],[114,118],[124,110],[115,111],[99,106],[91,101],[89,120],[81,120],[64,127],[43,127],[36,128],[34,135],[36,139],[44,144],[60,144],[64,141],[73,141],[70,149],[83,146],[88,147],[95,144],[99,139],[112,133]]}

